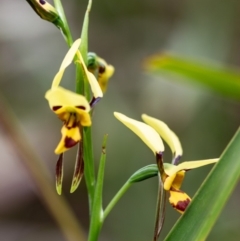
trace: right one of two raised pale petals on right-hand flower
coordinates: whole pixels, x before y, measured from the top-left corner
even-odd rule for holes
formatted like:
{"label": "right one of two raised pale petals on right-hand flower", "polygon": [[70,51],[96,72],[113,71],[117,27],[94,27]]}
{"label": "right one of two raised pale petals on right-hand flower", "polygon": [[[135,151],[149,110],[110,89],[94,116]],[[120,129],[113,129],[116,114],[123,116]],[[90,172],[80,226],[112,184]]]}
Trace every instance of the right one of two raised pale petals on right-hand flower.
{"label": "right one of two raised pale petals on right-hand flower", "polygon": [[175,157],[182,156],[183,150],[177,135],[163,121],[146,114],[142,115],[142,119],[153,127],[163,140],[166,141]]}

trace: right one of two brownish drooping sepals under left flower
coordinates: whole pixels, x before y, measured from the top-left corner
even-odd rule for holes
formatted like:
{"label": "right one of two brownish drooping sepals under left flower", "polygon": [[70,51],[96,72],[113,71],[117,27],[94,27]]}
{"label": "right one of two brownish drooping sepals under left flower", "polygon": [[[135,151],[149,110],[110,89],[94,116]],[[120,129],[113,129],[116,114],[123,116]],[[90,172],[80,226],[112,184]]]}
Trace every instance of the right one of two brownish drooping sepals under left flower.
{"label": "right one of two brownish drooping sepals under left flower", "polygon": [[70,193],[73,193],[76,191],[76,189],[78,188],[82,180],[83,174],[84,174],[83,147],[82,147],[82,142],[79,142]]}

